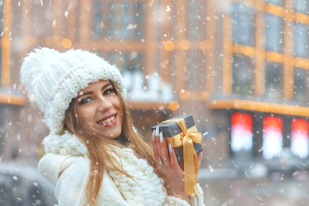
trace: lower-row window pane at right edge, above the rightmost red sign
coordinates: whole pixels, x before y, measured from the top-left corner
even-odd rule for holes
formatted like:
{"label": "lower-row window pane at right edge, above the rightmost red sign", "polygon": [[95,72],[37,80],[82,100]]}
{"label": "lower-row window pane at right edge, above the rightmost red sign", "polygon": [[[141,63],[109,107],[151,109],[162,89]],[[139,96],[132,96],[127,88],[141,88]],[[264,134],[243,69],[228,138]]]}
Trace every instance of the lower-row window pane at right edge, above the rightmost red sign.
{"label": "lower-row window pane at right edge, above the rightmost red sign", "polygon": [[294,100],[308,102],[309,71],[302,68],[294,69]]}

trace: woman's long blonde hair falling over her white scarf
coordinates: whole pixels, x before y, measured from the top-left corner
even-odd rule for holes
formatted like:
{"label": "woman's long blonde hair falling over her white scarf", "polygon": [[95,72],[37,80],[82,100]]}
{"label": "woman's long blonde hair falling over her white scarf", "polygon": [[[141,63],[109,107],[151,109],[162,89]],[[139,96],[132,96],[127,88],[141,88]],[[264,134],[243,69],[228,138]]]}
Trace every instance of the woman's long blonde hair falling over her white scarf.
{"label": "woman's long blonde hair falling over her white scarf", "polygon": [[[76,98],[72,100],[69,109],[65,113],[64,129],[67,129],[75,134],[77,138],[86,145],[90,159],[89,176],[84,190],[84,195],[86,198],[84,206],[87,204],[90,204],[90,206],[95,206],[103,180],[104,168],[106,167],[105,161],[107,161],[113,169],[133,179],[132,176],[127,174],[126,171],[122,169],[121,163],[118,163],[115,157],[108,152],[111,150],[113,151],[113,147],[110,147],[110,145],[116,145],[119,148],[124,148],[125,142],[131,143],[135,150],[135,155],[138,158],[146,159],[154,168],[154,172],[158,174],[154,165],[154,154],[151,148],[141,138],[141,135],[132,128],[133,123],[129,109],[125,104],[118,88],[116,88],[113,82],[111,83],[115,88],[116,95],[119,97],[120,111],[122,111],[122,131],[120,136],[116,138],[118,141],[115,139],[111,140],[102,136],[97,136],[96,134],[89,134],[83,130],[83,123],[78,115]],[[116,154],[115,151],[113,152]]]}

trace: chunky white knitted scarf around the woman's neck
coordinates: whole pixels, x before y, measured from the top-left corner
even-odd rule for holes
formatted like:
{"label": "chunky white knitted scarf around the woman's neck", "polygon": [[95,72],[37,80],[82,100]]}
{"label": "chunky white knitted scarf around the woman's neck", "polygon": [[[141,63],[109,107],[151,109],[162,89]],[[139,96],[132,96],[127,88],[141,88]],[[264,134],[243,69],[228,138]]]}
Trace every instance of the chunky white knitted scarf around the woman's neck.
{"label": "chunky white knitted scarf around the woman's neck", "polygon": [[[46,153],[72,154],[88,158],[86,146],[68,131],[63,135],[49,134],[43,143]],[[154,168],[146,160],[137,158],[131,148],[116,148],[116,151],[117,154],[111,152],[111,155],[136,181],[112,169],[106,162],[108,174],[114,180],[125,201],[132,206],[161,206],[166,192],[162,180],[154,173]]]}

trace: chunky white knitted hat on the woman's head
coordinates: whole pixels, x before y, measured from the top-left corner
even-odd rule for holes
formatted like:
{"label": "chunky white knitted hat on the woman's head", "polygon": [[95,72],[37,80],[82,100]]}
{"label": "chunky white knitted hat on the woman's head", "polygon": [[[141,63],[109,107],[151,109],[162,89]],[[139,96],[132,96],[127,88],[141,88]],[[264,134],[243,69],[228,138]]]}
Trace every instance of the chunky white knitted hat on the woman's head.
{"label": "chunky white knitted hat on the woman's head", "polygon": [[119,70],[97,54],[84,50],[60,53],[50,48],[36,48],[21,67],[21,82],[34,98],[51,133],[63,132],[65,111],[72,98],[91,82],[110,80],[121,95],[125,85]]}

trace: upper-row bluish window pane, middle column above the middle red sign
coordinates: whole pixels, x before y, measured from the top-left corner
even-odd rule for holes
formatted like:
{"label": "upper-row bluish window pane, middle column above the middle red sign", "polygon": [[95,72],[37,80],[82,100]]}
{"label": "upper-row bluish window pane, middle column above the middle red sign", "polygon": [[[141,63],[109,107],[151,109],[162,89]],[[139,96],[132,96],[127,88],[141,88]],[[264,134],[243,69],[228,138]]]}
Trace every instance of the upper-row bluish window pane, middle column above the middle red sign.
{"label": "upper-row bluish window pane, middle column above the middle red sign", "polygon": [[265,48],[283,52],[283,19],[272,14],[265,14]]}

